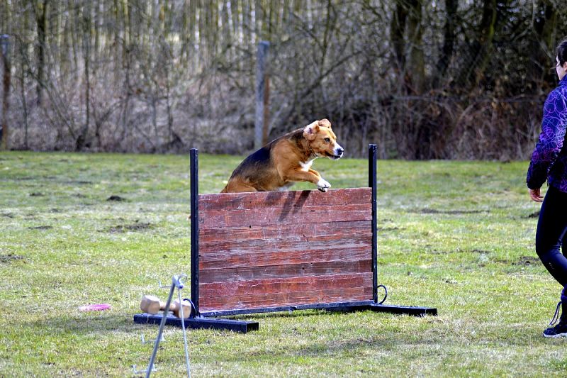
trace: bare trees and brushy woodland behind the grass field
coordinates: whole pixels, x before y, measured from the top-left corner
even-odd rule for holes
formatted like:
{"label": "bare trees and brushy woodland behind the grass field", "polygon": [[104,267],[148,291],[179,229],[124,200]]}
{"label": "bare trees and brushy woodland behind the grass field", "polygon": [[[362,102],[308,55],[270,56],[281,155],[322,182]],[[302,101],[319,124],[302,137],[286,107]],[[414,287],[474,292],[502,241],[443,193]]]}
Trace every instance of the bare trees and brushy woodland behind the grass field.
{"label": "bare trees and brushy woodland behind the grass field", "polygon": [[567,12],[560,0],[0,0],[0,34],[9,149],[250,152],[266,40],[270,138],[328,118],[348,156],[378,143],[381,158],[517,160],[557,84]]}

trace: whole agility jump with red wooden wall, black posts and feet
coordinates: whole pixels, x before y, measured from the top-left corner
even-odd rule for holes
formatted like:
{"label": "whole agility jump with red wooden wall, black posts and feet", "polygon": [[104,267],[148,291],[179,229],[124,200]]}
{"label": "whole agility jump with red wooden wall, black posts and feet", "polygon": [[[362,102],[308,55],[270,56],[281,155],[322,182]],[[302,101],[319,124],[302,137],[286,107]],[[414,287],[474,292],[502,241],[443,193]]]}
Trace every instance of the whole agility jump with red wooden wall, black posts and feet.
{"label": "whole agility jump with red wooden wall, black posts and feet", "polygon": [[[247,332],[257,322],[216,318],[321,308],[437,315],[437,308],[378,301],[376,145],[369,187],[320,191],[198,194],[191,150],[189,328]],[[160,314],[134,316],[159,323]],[[166,324],[181,326],[169,316]]]}

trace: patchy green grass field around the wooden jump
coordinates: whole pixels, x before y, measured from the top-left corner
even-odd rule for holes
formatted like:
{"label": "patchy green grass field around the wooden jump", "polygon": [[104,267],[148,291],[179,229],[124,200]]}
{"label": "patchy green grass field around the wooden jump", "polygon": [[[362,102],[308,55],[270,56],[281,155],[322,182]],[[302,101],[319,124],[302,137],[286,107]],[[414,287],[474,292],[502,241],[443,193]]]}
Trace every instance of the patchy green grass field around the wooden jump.
{"label": "patchy green grass field around the wooden jump", "polygon": [[[240,157],[201,155],[201,193]],[[318,160],[333,187],[365,160]],[[564,377],[567,340],[541,336],[560,287],[537,260],[527,162],[378,162],[378,282],[388,304],[439,316],[297,311],[242,316],[246,335],[189,331],[193,377]],[[312,189],[298,184],[295,189]],[[108,200],[118,196],[121,201]],[[116,197],[115,197],[116,198]],[[0,377],[132,377],[157,327],[142,294],[189,274],[189,157],[0,153]],[[189,295],[189,294],[187,294]],[[108,303],[110,311],[79,312]],[[168,328],[156,377],[184,374]]]}

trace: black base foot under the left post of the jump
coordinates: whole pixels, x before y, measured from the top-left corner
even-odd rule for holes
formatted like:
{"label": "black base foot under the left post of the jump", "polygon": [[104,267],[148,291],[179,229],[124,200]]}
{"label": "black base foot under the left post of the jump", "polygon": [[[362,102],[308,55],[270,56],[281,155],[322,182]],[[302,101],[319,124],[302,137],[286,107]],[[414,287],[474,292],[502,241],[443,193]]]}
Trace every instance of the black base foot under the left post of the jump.
{"label": "black base foot under the left post of the jump", "polygon": [[[134,316],[134,323],[137,324],[158,324],[162,321],[163,315],[157,313],[150,315],[149,313],[137,313]],[[166,326],[181,327],[181,319],[173,315],[168,315],[165,321]],[[235,321],[231,319],[221,318],[187,318],[185,319],[185,327],[213,328],[218,330],[233,330],[235,332],[247,333],[250,330],[258,330],[257,321]]]}

